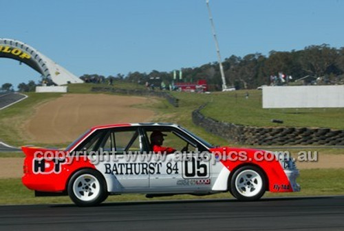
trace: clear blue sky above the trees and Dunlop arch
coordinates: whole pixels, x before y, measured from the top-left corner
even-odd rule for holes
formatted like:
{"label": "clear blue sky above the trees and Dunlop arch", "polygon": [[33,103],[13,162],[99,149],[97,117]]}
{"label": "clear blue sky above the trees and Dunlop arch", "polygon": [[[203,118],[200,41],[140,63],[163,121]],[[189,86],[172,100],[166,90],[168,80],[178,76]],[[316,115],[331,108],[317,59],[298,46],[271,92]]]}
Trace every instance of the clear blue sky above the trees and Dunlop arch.
{"label": "clear blue sky above the trees and Dunlop arch", "polygon": [[[69,72],[171,72],[217,61],[206,0],[0,0],[0,38],[27,43]],[[222,60],[344,46],[344,0],[210,0]],[[0,86],[41,74],[0,60]]]}

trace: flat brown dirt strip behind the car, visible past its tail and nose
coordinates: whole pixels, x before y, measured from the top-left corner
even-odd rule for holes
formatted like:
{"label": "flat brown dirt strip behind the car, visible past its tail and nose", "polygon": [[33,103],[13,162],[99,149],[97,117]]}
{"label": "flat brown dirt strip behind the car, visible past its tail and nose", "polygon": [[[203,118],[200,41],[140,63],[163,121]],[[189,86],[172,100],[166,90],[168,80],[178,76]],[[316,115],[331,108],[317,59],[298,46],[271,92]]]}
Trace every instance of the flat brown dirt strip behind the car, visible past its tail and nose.
{"label": "flat brown dirt strip behind the car, visible past its tail and nose", "polygon": [[[299,162],[297,168],[343,168],[343,154],[319,154],[314,162]],[[23,175],[23,158],[0,158],[0,179],[20,178]]]}

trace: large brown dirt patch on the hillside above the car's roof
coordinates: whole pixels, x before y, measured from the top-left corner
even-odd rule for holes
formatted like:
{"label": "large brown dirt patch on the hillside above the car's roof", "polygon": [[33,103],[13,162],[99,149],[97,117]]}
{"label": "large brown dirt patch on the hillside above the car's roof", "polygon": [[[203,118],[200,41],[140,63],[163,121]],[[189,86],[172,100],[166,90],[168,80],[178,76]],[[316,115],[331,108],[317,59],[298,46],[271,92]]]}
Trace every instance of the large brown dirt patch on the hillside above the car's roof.
{"label": "large brown dirt patch on the hillside above the car's roof", "polygon": [[155,99],[111,94],[64,94],[34,108],[25,123],[28,142],[67,143],[94,125],[150,121],[154,112],[133,106]]}

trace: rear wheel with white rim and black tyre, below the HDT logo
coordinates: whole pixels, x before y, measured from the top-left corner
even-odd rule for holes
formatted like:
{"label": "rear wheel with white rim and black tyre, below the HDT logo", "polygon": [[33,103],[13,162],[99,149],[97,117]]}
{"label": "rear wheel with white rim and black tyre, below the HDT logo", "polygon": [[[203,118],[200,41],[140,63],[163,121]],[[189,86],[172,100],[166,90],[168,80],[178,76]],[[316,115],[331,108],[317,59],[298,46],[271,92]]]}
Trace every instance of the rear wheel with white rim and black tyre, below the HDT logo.
{"label": "rear wheel with white rim and black tyre, below the HDT logo", "polygon": [[72,201],[80,206],[94,206],[107,199],[107,186],[100,172],[83,169],[71,177],[67,187]]}

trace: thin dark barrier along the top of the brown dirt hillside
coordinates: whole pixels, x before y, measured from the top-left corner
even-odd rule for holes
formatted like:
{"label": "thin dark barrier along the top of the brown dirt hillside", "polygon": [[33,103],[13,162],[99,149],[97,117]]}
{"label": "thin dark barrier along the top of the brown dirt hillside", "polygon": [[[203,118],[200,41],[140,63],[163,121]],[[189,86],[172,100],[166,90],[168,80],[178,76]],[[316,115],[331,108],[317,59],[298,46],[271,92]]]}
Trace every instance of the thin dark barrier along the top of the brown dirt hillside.
{"label": "thin dark barrier along the top of the brown dirt hillside", "polygon": [[135,94],[140,96],[162,97],[167,99],[174,107],[178,108],[178,99],[171,96],[168,92],[141,89],[122,89],[122,88],[92,88],[92,92],[114,92],[116,94]]}

